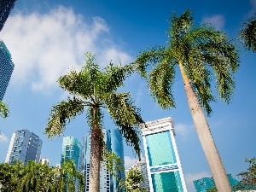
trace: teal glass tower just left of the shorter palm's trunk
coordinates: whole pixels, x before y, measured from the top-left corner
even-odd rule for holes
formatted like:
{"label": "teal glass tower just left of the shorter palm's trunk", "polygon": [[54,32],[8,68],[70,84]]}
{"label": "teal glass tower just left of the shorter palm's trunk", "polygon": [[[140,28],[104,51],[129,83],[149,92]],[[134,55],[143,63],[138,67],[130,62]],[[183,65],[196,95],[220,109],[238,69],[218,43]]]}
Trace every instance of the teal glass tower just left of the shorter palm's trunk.
{"label": "teal glass tower just left of the shorter palm's trunk", "polygon": [[[73,160],[77,171],[82,171],[82,150],[81,144],[75,137],[63,137],[61,164],[67,160]],[[76,191],[79,191],[79,182],[75,181]]]}

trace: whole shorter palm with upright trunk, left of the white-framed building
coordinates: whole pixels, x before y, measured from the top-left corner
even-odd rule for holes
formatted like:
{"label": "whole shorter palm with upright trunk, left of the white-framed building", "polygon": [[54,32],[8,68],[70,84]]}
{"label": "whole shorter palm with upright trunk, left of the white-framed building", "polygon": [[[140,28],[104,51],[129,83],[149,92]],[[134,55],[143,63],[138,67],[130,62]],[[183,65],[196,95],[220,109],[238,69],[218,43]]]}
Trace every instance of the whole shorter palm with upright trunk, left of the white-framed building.
{"label": "whole shorter palm with upright trunk, left of the white-framed building", "polygon": [[103,109],[125,137],[126,143],[133,146],[140,155],[140,139],[137,135],[143,119],[133,105],[129,93],[116,93],[125,79],[132,73],[131,66],[113,67],[110,62],[102,72],[96,64],[95,55],[85,54],[85,66],[77,73],[74,69],[62,76],[58,83],[72,96],[51,109],[45,133],[48,137],[60,136],[67,123],[87,109],[87,122],[90,126],[90,192],[99,191],[100,160],[104,141],[102,135]]}

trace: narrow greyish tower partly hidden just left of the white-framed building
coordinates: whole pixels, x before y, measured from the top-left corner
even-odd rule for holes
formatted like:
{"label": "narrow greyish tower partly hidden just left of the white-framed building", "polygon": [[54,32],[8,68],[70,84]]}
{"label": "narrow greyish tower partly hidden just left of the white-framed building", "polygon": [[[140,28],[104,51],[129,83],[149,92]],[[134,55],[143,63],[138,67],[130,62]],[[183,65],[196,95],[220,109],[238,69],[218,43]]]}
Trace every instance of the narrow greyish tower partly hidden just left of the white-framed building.
{"label": "narrow greyish tower partly hidden just left of the white-framed building", "polygon": [[136,163],[134,165],[132,165],[131,167],[135,167],[137,168],[140,172],[142,172],[143,177],[144,177],[144,181],[142,183],[140,183],[140,187],[144,187],[146,188],[145,192],[150,192],[149,189],[149,182],[148,182],[148,171],[147,171],[147,163],[145,159],[136,161]]}

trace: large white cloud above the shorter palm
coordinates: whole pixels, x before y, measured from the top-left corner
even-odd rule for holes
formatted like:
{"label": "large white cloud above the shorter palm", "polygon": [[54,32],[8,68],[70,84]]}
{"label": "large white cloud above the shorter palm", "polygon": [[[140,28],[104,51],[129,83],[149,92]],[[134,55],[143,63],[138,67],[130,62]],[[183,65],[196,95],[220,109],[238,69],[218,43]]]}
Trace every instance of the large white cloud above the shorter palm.
{"label": "large white cloud above the shorter palm", "polygon": [[71,67],[83,65],[86,51],[96,54],[103,66],[110,60],[114,64],[131,61],[131,56],[108,35],[108,25],[102,18],[85,23],[82,15],[61,6],[44,15],[9,16],[1,38],[15,63],[11,84],[26,83],[32,90],[49,90]]}

